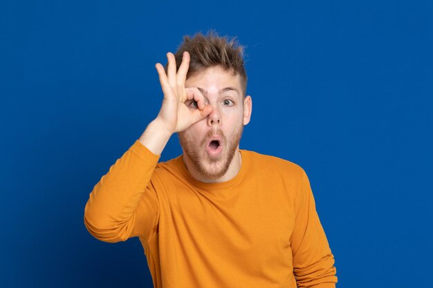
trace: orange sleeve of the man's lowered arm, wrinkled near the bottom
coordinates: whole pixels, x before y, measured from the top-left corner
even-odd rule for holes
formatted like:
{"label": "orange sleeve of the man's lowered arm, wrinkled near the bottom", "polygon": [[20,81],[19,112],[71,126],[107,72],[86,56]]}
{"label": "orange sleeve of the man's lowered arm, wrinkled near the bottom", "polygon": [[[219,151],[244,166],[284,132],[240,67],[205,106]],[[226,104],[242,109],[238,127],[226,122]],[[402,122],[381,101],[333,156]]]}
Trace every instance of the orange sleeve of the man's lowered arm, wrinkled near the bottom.
{"label": "orange sleeve of the man's lowered arm, wrinkled near the bottom", "polygon": [[308,177],[303,174],[291,238],[297,287],[335,287],[334,257],[315,209]]}

